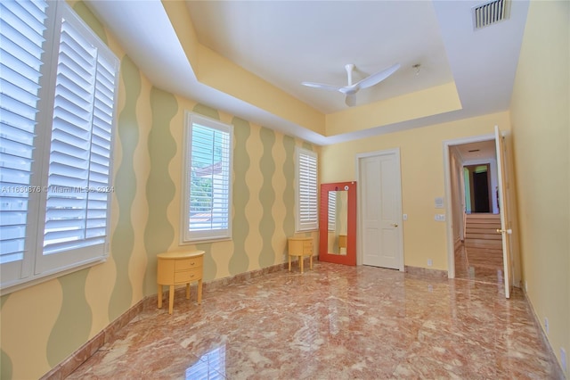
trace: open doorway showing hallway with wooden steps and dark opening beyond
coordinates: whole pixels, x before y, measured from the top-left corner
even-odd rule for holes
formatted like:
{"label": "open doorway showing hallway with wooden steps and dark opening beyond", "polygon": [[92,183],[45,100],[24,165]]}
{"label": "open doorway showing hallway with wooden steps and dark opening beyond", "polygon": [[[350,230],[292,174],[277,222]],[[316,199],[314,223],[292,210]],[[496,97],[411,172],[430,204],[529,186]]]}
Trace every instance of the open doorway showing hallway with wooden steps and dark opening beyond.
{"label": "open doorway showing hallway with wooden steps and dark opening beyond", "polygon": [[493,137],[449,146],[454,276],[502,285],[501,216]]}

